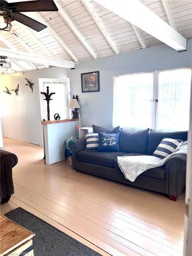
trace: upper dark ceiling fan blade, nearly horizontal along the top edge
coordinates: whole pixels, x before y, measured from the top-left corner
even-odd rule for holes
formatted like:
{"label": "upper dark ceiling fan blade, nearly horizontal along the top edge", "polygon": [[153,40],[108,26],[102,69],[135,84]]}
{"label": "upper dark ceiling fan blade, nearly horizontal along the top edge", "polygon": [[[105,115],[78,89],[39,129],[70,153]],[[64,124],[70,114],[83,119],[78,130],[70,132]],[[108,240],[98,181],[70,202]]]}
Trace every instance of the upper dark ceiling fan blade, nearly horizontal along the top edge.
{"label": "upper dark ceiling fan blade, nearly horizontal along the top edge", "polygon": [[37,0],[10,3],[9,8],[13,12],[49,12],[58,11],[54,1],[52,0]]}

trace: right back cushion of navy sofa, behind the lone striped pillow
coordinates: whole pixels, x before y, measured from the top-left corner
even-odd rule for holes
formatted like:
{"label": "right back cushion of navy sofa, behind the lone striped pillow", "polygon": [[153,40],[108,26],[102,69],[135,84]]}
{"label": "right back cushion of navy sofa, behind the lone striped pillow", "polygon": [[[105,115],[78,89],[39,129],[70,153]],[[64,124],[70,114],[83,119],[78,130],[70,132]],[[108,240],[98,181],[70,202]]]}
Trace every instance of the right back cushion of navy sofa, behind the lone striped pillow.
{"label": "right back cushion of navy sofa, behind the lone striped pillow", "polygon": [[163,138],[172,138],[172,139],[186,141],[187,132],[164,133],[164,132],[157,132],[151,129],[150,134],[148,135],[146,154],[153,155],[157,146],[159,145],[159,143],[162,141]]}

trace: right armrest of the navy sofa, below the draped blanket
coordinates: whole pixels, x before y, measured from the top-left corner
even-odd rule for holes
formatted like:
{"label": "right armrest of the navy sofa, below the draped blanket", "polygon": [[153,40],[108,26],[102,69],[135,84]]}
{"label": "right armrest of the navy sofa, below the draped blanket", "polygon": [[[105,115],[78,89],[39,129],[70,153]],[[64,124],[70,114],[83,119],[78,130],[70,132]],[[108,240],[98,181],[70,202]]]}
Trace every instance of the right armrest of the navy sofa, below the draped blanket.
{"label": "right armrest of the navy sofa, below the draped blanket", "polygon": [[186,155],[174,155],[165,164],[165,190],[169,196],[178,197],[185,187],[186,158]]}

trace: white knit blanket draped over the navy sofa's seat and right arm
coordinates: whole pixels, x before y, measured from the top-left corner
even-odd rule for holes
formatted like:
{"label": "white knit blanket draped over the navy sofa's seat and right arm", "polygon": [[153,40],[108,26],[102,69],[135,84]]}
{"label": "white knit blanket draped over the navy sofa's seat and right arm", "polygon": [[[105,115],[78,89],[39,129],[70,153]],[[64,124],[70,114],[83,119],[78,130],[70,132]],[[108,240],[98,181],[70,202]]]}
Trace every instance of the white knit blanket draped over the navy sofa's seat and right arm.
{"label": "white knit blanket draped over the navy sofa's seat and right arm", "polygon": [[164,159],[155,156],[122,156],[117,157],[117,163],[121,172],[124,174],[124,177],[127,180],[135,181],[135,179],[145,172],[145,170],[164,165],[172,156],[178,154],[186,155],[187,147],[188,142],[183,141],[176,152]]}

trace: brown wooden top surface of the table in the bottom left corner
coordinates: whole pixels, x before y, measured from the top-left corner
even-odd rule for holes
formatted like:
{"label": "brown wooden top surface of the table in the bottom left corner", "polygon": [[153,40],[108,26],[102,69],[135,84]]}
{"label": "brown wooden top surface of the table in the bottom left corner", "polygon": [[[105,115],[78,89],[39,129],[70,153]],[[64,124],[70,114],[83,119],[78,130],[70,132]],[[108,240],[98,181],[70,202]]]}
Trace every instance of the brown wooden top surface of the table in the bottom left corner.
{"label": "brown wooden top surface of the table in the bottom left corner", "polygon": [[2,215],[0,219],[0,230],[1,255],[7,254],[35,236],[35,234],[31,231],[14,223]]}

